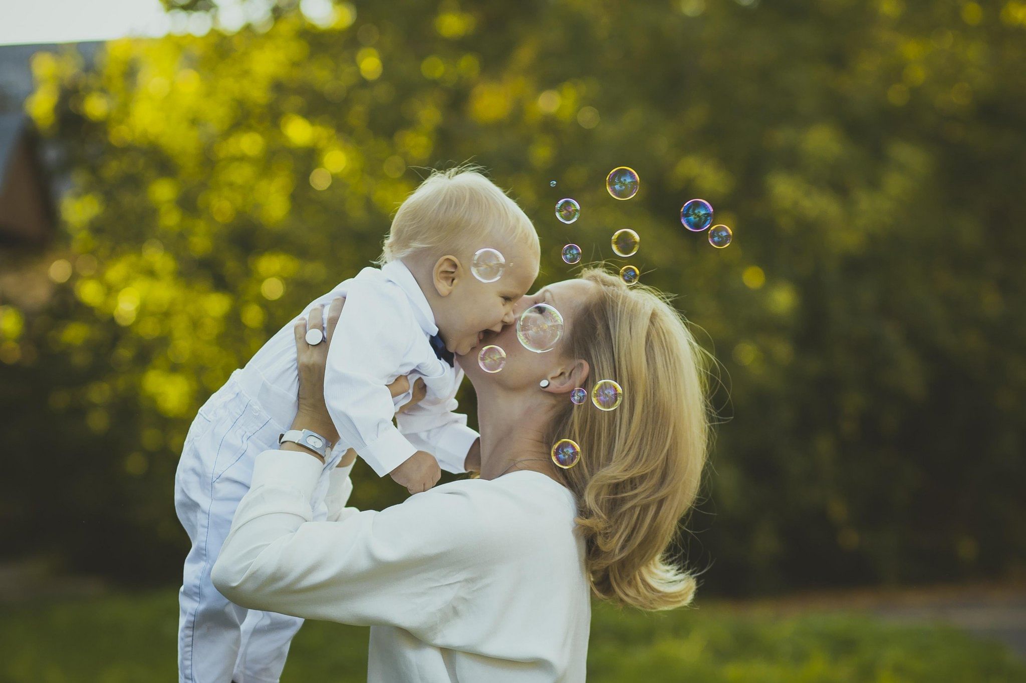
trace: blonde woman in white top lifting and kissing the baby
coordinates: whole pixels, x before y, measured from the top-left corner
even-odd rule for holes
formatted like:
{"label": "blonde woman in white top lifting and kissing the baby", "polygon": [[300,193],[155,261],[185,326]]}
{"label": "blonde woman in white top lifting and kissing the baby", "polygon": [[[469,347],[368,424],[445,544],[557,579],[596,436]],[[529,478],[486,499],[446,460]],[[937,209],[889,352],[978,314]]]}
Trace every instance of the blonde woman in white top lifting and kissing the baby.
{"label": "blonde woman in white top lifting and kissing the baby", "polygon": [[[507,326],[481,341],[506,350],[502,372],[459,358],[477,392],[480,450],[467,464],[480,478],[343,511],[350,458],[332,474],[330,520],[313,522],[320,457],[292,443],[265,452],[213,567],[218,590],[251,609],[371,626],[368,680],[389,682],[581,681],[589,590],[644,609],[689,603],[694,575],[664,558],[706,459],[703,351],[654,291],[599,269],[518,311],[539,302],[563,315],[552,352],[525,349]],[[297,326],[291,428],[332,438],[327,349],[304,341],[321,311],[310,318]],[[600,379],[622,385],[619,408],[570,401]],[[562,438],[581,446],[569,469],[551,458]]]}

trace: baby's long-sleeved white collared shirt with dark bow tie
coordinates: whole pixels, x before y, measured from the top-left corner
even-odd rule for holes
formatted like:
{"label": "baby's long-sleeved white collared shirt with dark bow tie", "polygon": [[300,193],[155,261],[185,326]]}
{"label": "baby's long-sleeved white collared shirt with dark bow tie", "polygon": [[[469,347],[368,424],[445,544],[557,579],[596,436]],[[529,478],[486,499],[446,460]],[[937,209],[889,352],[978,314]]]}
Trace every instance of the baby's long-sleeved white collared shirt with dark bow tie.
{"label": "baby's long-sleeved white collared shirt with dark bow tie", "polygon": [[[429,338],[438,327],[413,273],[398,260],[381,269],[363,268],[310,302],[303,314],[320,304],[326,316],[328,305],[339,296],[346,297],[346,305],[324,370],[324,402],[340,436],[333,452],[354,449],[379,476],[417,451],[432,454],[446,471],[466,471],[464,461],[478,434],[467,427],[466,415],[453,412],[463,369],[435,355]],[[243,372],[260,374],[265,386],[262,403],[272,417],[289,424],[299,388],[291,322]],[[395,415],[411,397],[409,391],[394,399],[389,393],[387,385],[400,375],[409,376],[410,386],[423,378],[428,391],[408,412]],[[392,423],[393,416],[397,424]]]}

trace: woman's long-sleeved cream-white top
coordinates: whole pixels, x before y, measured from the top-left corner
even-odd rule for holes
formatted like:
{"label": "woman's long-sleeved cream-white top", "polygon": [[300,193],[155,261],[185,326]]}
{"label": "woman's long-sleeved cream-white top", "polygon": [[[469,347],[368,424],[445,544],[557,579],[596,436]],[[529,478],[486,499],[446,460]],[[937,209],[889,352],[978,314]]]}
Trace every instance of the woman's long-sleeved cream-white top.
{"label": "woman's long-sleeved cream-white top", "polygon": [[371,682],[585,680],[590,589],[567,488],[520,470],[357,511],[342,508],[339,468],[328,521],[315,522],[321,467],[305,453],[258,456],[211,573],[225,597],[369,625]]}

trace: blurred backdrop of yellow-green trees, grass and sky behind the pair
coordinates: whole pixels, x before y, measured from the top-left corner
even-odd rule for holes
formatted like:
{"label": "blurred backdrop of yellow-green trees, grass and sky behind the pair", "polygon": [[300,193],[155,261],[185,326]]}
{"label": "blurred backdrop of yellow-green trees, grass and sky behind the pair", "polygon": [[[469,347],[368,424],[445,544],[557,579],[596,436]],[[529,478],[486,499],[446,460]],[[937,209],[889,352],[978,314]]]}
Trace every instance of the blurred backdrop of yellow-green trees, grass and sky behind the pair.
{"label": "blurred backdrop of yellow-green trees, grass and sky behind the pair", "polygon": [[0,680],[173,680],[196,410],[465,161],[719,362],[698,609],[596,605],[591,680],[1026,680],[1026,2],[161,2],[0,5]]}

